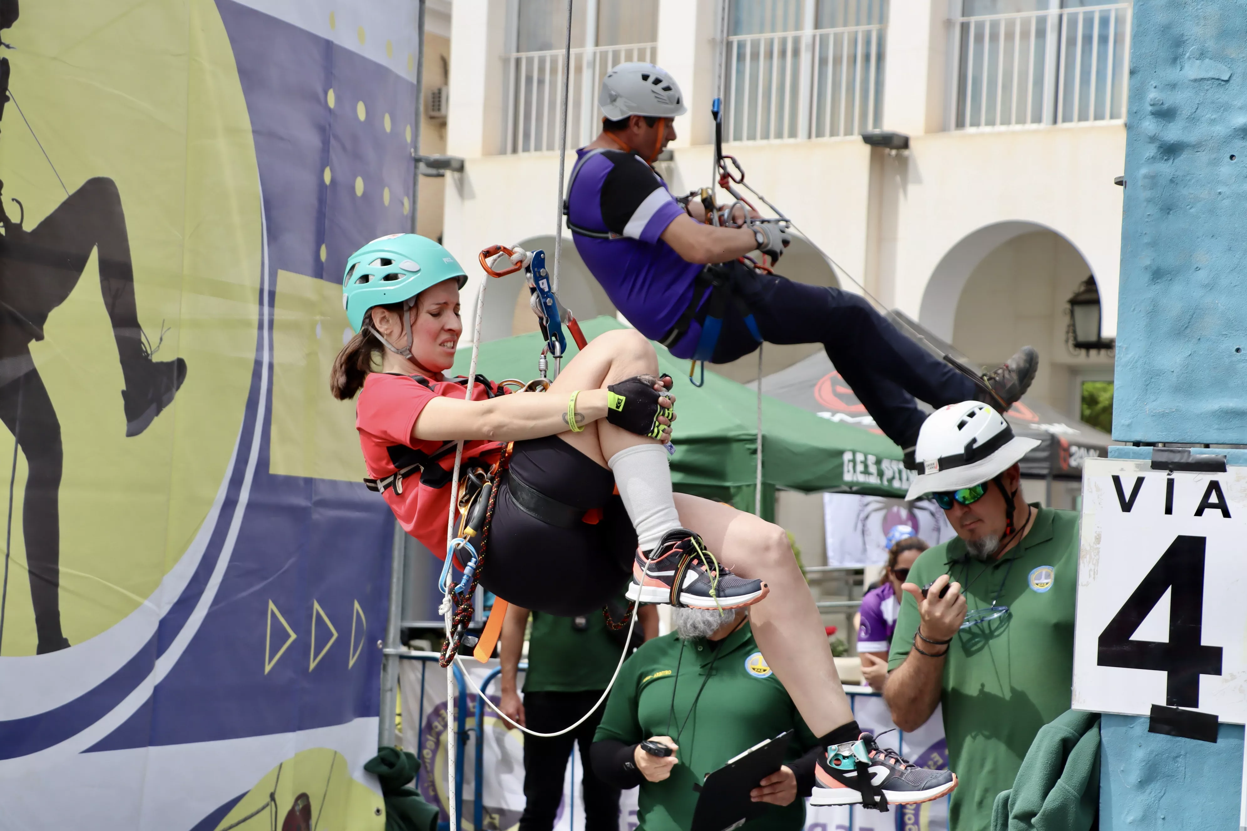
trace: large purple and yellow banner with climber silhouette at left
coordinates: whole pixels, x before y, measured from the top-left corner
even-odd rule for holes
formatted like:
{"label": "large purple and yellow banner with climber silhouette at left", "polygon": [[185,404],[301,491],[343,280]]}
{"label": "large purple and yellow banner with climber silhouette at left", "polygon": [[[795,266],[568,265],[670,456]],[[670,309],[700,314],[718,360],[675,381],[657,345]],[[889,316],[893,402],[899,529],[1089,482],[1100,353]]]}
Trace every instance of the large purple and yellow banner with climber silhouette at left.
{"label": "large purple and yellow banner with climber silhouette at left", "polygon": [[382,827],[393,520],[327,373],[414,14],[0,0],[0,826]]}

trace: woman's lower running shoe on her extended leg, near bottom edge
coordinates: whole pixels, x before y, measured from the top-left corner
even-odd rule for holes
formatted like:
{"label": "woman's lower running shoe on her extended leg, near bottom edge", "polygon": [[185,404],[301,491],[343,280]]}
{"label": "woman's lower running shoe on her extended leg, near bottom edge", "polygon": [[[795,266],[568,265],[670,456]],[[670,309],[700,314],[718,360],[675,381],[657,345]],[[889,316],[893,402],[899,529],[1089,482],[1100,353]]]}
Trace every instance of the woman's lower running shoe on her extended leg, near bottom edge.
{"label": "woman's lower running shoe on her extended leg, near bottom edge", "polygon": [[857,741],[831,745],[818,757],[811,805],[864,805],[880,811],[889,804],[929,802],[956,787],[950,770],[919,767],[869,733]]}

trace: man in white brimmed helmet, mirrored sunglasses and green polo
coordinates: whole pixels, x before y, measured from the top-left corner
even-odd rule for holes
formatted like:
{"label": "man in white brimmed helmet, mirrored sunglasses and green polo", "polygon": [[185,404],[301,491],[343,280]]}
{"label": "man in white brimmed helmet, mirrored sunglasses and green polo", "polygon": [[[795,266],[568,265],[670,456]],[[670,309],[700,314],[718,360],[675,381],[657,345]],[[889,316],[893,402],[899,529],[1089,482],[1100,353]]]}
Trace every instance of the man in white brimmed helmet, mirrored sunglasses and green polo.
{"label": "man in white brimmed helmet, mirrored sunglasses and green polo", "polygon": [[1018,462],[1039,444],[978,401],[918,436],[907,498],[930,493],[956,537],[909,569],[884,698],[903,730],[943,703],[958,831],[990,827],[1035,734],[1070,709],[1079,515],[1023,498]]}

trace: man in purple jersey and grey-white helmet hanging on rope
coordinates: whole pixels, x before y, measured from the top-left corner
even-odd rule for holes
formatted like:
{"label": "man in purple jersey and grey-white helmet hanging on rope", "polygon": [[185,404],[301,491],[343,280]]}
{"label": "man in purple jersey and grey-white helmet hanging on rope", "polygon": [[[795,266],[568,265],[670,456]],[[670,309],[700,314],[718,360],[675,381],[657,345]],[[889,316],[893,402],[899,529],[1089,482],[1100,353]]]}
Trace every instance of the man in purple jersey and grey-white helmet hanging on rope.
{"label": "man in purple jersey and grey-white helmet hanging on rope", "polygon": [[[653,64],[620,64],[602,80],[602,132],[577,152],[564,212],[589,270],[615,306],[676,358],[725,364],[773,344],[822,343],[879,427],[912,451],[933,406],[978,399],[1001,411],[1021,397],[1039,356],[1023,348],[986,376],[991,392],[932,356],[863,298],[759,270],[788,234],[773,222],[676,199],[652,164],[687,112],[680,85]],[[706,198],[708,202],[708,197]],[[720,224],[707,222],[720,211]]]}

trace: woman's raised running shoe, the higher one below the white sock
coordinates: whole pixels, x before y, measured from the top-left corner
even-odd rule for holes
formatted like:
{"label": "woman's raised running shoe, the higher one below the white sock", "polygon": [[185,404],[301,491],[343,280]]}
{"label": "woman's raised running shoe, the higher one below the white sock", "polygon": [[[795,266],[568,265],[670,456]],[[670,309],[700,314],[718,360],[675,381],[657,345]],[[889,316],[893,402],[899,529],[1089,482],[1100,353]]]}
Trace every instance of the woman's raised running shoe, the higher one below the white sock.
{"label": "woman's raised running shoe, the higher one below the white sock", "polygon": [[737,577],[687,528],[672,528],[648,556],[637,549],[627,598],[695,609],[736,609],[757,603],[771,589]]}

